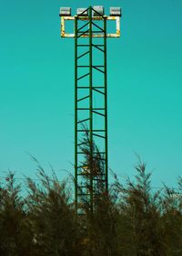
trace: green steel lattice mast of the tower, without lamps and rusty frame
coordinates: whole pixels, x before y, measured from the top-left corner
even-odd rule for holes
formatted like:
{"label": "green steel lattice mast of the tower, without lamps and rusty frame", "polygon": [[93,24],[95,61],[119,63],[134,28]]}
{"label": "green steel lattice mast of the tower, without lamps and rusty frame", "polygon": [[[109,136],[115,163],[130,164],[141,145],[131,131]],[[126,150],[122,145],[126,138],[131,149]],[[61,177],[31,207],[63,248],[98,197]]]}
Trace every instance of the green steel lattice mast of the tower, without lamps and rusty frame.
{"label": "green steel lattice mast of the tower, without lamps and rusty frame", "polygon": [[[108,189],[108,156],[107,156],[107,94],[106,94],[106,17],[99,16],[101,23],[103,23],[103,27],[99,27],[96,25],[96,21],[93,20],[92,12],[93,8],[90,6],[88,8],[88,20],[83,18],[83,16],[76,16],[75,20],[75,189],[76,189],[76,206],[78,207],[78,203],[82,201],[84,198],[89,205],[91,211],[94,210],[94,182],[97,181],[98,176],[94,176],[94,166],[92,165],[94,161],[94,152],[93,144],[94,138],[97,136],[104,140],[104,147],[102,150],[102,155],[104,155],[102,161],[105,162],[104,172],[100,179],[104,183],[104,187],[106,191]],[[78,26],[78,20],[82,25]],[[96,31],[94,31],[94,29]],[[95,44],[93,35],[96,33],[103,34],[102,44]],[[82,41],[86,40],[86,38],[80,37],[80,35],[88,35],[88,44],[83,44]],[[100,38],[101,40],[101,38]],[[81,41],[81,43],[80,43]],[[85,51],[78,56],[78,50],[80,48],[84,48]],[[93,48],[96,48],[103,55],[103,59],[100,59],[102,63],[96,65],[93,61]],[[88,55],[88,63],[85,65],[79,65],[80,60],[85,58]],[[86,61],[86,62],[87,62]],[[81,76],[78,76],[78,72],[80,69],[84,69]],[[88,69],[88,72],[85,71]],[[97,84],[96,80],[93,78],[93,69],[96,72],[101,72],[103,74],[103,80],[100,81],[102,84]],[[81,72],[80,72],[81,73]],[[82,83],[88,76],[88,84]],[[82,91],[83,93],[80,93]],[[99,93],[103,96],[104,101],[102,101],[103,105],[99,108],[94,106],[93,94]],[[82,94],[83,97],[79,98],[78,94]],[[97,96],[97,95],[96,95]],[[88,99],[89,106],[87,107],[79,107],[80,101],[86,101]],[[104,127],[102,129],[96,129],[94,124],[94,118],[96,115],[99,115],[103,119]],[[79,117],[81,116],[81,117]],[[83,118],[86,116],[86,118]],[[87,123],[86,125],[78,125],[81,123]],[[78,126],[80,126],[78,128]],[[87,129],[86,129],[87,128]],[[80,134],[87,133],[90,143],[90,165],[89,167],[83,164],[82,155],[85,154],[84,151],[80,151],[80,145],[82,143],[82,138],[80,138]],[[81,156],[81,157],[80,157]],[[81,158],[81,159],[80,159]],[[80,165],[81,164],[81,165]],[[82,180],[86,180],[84,184],[82,184]]]}

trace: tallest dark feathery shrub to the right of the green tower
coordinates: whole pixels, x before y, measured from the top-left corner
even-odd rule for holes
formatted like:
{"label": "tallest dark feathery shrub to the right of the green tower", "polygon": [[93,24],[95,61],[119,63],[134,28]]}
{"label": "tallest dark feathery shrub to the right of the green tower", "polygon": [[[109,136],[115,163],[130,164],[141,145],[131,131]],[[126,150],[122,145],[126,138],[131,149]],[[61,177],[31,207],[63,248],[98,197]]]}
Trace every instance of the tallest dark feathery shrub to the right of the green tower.
{"label": "tallest dark feathery shrub to the right of the green tower", "polygon": [[151,174],[141,161],[136,165],[136,180],[127,178],[126,187],[119,186],[120,238],[124,255],[165,255],[161,237],[159,192],[153,193]]}

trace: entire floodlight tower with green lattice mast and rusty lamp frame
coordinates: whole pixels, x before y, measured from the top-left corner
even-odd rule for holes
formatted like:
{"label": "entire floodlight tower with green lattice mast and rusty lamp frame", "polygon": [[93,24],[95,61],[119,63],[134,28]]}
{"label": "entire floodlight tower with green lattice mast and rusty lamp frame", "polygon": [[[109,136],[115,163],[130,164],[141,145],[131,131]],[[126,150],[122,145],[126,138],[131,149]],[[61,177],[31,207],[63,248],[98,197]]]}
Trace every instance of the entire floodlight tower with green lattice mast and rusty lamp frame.
{"label": "entire floodlight tower with green lattice mast and rusty lamp frame", "polygon": [[[96,185],[108,189],[107,153],[107,72],[106,38],[120,37],[120,7],[111,7],[105,16],[103,6],[60,8],[61,37],[75,38],[75,197],[79,211],[84,198],[91,211],[95,208]],[[116,33],[108,33],[107,21],[116,21]],[[73,21],[75,31],[66,33],[66,22]],[[84,137],[87,137],[84,139]],[[89,163],[82,146],[89,144]],[[94,162],[99,148],[101,169]]]}

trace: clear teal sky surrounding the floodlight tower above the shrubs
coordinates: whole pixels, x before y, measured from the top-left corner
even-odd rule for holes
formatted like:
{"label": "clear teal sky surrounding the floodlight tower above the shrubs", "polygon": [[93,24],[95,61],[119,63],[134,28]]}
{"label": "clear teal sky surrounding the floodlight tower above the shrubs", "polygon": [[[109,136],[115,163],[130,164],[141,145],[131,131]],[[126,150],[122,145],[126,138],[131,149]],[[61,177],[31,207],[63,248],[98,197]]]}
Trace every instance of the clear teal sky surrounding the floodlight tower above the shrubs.
{"label": "clear teal sky surrounding the floodlight tower above the shrubs", "polygon": [[0,176],[35,176],[34,155],[73,171],[74,40],[59,7],[121,6],[122,37],[108,39],[109,165],[132,176],[136,154],[153,186],[182,173],[182,1],[0,1]]}

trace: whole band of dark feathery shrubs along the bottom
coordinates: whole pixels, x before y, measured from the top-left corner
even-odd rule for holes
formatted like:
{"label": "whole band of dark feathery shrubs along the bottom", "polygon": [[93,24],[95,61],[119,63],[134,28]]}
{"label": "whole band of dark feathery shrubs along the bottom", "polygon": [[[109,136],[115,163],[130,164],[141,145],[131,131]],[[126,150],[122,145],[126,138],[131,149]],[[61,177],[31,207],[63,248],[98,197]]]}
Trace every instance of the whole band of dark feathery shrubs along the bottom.
{"label": "whole band of dark feathery shrubs along the bottom", "polygon": [[154,192],[139,161],[135,179],[124,186],[114,175],[108,194],[100,191],[94,213],[83,218],[65,180],[40,165],[37,175],[39,183],[26,178],[26,194],[13,173],[0,184],[0,255],[182,255],[182,178],[177,191]]}

